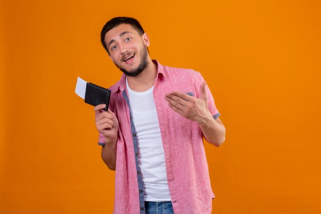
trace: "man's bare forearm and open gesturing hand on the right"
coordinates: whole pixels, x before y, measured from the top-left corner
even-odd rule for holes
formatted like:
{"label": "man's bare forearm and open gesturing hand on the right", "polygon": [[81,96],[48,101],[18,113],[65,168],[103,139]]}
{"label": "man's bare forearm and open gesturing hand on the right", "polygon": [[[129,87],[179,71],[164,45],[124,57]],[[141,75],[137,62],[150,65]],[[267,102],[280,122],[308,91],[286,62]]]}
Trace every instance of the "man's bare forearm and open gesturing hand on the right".
{"label": "man's bare forearm and open gesturing hand on the right", "polygon": [[199,98],[185,93],[172,92],[165,95],[165,100],[184,118],[197,122],[207,142],[220,146],[225,141],[225,127],[222,121],[219,118],[214,119],[208,110],[205,86],[206,82],[200,85]]}

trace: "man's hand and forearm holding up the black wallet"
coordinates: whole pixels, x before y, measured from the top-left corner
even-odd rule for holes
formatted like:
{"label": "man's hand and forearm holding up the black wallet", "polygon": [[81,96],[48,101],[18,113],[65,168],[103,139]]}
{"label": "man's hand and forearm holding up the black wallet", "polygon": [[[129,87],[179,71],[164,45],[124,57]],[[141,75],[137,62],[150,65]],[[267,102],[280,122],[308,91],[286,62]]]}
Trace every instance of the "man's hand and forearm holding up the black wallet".
{"label": "man's hand and forearm holding up the black wallet", "polygon": [[105,104],[95,106],[96,128],[105,136],[105,146],[102,147],[102,159],[111,170],[116,168],[116,147],[118,134],[118,120],[110,109],[103,111]]}

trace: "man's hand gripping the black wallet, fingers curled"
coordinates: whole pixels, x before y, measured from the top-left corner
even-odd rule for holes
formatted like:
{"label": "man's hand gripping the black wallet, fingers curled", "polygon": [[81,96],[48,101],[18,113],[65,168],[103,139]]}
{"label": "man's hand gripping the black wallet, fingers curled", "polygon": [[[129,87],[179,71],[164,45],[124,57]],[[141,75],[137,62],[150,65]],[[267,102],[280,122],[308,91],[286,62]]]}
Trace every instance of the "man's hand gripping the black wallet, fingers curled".
{"label": "man's hand gripping the black wallet, fingers curled", "polygon": [[118,133],[118,120],[114,112],[112,112],[109,108],[107,111],[102,110],[105,107],[105,104],[100,104],[94,108],[96,113],[96,128],[105,136],[107,141],[115,142],[117,140]]}

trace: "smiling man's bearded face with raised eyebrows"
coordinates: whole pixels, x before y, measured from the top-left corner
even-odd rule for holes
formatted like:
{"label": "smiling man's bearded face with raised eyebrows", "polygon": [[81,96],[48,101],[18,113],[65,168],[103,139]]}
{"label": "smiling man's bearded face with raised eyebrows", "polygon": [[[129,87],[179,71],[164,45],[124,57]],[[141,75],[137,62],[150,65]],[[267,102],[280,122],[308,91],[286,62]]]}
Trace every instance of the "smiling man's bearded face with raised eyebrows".
{"label": "smiling man's bearded face with raised eyebrows", "polygon": [[121,24],[105,35],[109,56],[117,68],[128,76],[137,76],[148,65],[149,38],[128,24]]}

